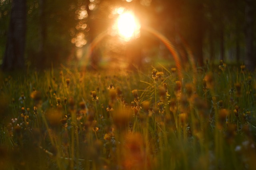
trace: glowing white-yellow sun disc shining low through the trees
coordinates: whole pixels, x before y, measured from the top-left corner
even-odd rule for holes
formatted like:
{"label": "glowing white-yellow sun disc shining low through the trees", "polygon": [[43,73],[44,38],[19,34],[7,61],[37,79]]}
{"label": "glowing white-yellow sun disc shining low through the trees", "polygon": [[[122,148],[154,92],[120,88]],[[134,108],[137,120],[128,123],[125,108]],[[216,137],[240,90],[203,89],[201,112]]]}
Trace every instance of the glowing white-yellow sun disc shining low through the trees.
{"label": "glowing white-yellow sun disc shining low through the trees", "polygon": [[140,23],[131,12],[124,12],[117,19],[118,33],[126,41],[140,33]]}

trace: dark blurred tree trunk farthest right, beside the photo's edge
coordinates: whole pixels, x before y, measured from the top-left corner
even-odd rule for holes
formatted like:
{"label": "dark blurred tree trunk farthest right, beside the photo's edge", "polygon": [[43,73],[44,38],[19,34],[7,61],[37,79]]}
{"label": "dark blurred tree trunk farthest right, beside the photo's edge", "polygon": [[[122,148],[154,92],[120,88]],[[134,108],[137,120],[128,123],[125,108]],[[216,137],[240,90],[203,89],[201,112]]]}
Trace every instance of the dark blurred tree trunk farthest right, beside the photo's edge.
{"label": "dark blurred tree trunk farthest right, beside the photo's edge", "polygon": [[253,22],[254,22],[254,2],[245,1],[245,65],[249,70],[255,69],[256,59],[253,56]]}

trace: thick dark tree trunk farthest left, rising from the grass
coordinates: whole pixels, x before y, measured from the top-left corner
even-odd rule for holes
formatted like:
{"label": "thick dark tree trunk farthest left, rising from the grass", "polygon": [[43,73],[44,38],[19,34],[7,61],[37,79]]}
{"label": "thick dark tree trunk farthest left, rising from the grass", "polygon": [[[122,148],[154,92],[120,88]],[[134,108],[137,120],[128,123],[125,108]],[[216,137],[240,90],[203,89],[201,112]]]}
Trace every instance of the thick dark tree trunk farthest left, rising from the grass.
{"label": "thick dark tree trunk farthest left, rising from the grass", "polygon": [[24,68],[26,0],[13,0],[2,70]]}

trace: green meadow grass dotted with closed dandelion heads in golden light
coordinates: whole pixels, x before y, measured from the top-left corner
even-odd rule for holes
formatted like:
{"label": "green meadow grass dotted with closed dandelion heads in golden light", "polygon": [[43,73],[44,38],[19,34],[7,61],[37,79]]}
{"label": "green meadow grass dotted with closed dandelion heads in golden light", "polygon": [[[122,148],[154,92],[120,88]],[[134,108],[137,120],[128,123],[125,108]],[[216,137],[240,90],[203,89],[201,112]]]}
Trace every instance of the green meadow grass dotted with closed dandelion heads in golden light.
{"label": "green meadow grass dotted with closed dandelion heads in golden light", "polygon": [[3,74],[0,169],[254,169],[255,72],[144,70]]}

